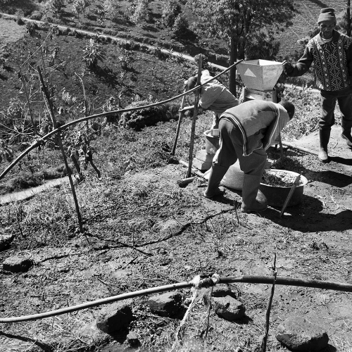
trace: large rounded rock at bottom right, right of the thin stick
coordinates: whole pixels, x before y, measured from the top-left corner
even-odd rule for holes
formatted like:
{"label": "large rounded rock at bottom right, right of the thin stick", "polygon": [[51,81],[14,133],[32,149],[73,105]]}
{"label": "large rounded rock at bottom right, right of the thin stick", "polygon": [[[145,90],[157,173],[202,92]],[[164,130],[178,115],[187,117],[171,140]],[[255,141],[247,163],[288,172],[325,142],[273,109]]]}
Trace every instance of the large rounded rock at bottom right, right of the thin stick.
{"label": "large rounded rock at bottom right, right of the thin stick", "polygon": [[325,329],[296,315],[279,325],[276,339],[294,351],[320,351],[329,342]]}

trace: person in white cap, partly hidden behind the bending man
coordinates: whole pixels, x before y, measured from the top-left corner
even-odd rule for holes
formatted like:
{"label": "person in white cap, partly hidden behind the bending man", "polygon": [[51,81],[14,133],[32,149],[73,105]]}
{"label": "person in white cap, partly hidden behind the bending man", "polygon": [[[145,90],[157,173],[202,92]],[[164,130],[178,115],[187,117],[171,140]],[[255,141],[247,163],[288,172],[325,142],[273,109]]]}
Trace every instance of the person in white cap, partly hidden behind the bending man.
{"label": "person in white cap, partly hidden behind the bending man", "polygon": [[[218,80],[211,80],[213,77],[210,76],[208,70],[203,70],[201,73],[201,91],[199,92],[199,106],[203,109],[213,111],[213,124],[210,130],[218,129],[220,115],[232,106],[237,106],[239,101],[223,84]],[[189,77],[184,82],[184,88],[189,90],[196,87],[197,76]],[[208,83],[207,83],[208,82]],[[184,110],[189,110],[194,106],[187,106]]]}

